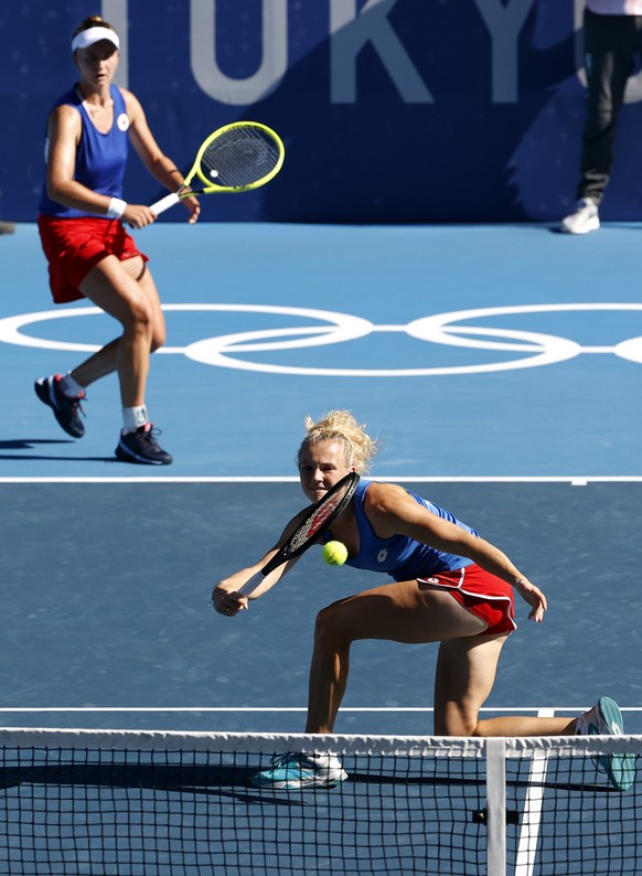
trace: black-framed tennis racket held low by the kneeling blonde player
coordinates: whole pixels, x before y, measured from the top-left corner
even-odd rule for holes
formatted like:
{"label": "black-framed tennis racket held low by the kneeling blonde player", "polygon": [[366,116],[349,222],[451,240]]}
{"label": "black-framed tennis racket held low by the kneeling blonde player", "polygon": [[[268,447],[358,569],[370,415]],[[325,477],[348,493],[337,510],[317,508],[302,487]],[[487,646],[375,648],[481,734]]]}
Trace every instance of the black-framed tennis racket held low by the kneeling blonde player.
{"label": "black-framed tennis racket held low by the kneeling blonde player", "polygon": [[290,535],[286,544],[279,549],[260,571],[238,588],[240,596],[249,596],[261,584],[266,575],[287,563],[289,559],[301,556],[327,530],[332,526],[336,517],[345,511],[347,503],[354,495],[359,474],[351,471],[334,484],[317,504],[310,509],[303,522]]}

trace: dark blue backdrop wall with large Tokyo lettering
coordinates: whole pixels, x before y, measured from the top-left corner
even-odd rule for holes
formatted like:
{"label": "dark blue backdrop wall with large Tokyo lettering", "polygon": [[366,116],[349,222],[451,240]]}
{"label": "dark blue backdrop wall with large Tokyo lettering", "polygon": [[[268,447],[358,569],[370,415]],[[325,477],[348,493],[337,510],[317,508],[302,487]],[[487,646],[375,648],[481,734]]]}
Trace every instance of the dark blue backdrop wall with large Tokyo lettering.
{"label": "dark blue backdrop wall with large Tokyo lettering", "polygon": [[[181,165],[235,119],[286,141],[277,180],[204,199],[205,220],[557,220],[577,184],[581,11],[582,0],[0,0],[0,218],[36,216],[46,115],[74,81],[71,33],[98,12],[121,35],[119,84]],[[606,220],[642,212],[641,99],[633,77]],[[132,154],[127,199],[158,193]]]}

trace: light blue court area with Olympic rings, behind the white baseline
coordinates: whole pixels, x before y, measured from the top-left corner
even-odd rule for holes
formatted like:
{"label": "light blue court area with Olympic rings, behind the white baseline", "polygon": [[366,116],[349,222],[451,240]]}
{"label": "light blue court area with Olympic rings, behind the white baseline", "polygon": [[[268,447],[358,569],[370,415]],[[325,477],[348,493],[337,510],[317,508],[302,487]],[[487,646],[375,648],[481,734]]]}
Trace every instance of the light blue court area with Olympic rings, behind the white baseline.
{"label": "light blue court area with Olympic rings, behind the white baseline", "polygon": [[[636,477],[640,228],[158,225],[137,234],[168,320],[148,405],[175,462],[122,469],[115,378],[79,442],[35,404],[117,333],[54,308],[32,225],[0,237],[0,477],[290,477],[302,417],[349,407],[390,477]],[[466,416],[467,424],[460,425]],[[454,425],[457,424],[457,426]]]}

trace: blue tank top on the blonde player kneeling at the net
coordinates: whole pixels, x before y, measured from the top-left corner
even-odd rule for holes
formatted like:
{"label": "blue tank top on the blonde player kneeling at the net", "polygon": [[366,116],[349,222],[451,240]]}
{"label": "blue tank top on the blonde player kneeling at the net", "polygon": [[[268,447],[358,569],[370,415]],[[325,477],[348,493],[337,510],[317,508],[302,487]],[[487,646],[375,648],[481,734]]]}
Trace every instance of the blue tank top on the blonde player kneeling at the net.
{"label": "blue tank top on the blonde player kneeling at the net", "polygon": [[[413,578],[428,578],[430,575],[450,569],[461,569],[471,566],[472,559],[469,557],[446,554],[435,547],[416,542],[407,535],[393,535],[390,538],[378,538],[365,515],[364,501],[365,493],[372,481],[360,480],[354,494],[354,513],[359,527],[359,554],[346,560],[346,565],[357,569],[368,569],[371,571],[385,571],[396,581],[411,580]],[[416,502],[437,516],[461,526],[462,530],[479,536],[477,530],[467,526],[466,523],[457,520],[449,511],[436,505],[417,495],[411,490],[406,490]],[[332,536],[327,535],[324,541],[331,541]]]}

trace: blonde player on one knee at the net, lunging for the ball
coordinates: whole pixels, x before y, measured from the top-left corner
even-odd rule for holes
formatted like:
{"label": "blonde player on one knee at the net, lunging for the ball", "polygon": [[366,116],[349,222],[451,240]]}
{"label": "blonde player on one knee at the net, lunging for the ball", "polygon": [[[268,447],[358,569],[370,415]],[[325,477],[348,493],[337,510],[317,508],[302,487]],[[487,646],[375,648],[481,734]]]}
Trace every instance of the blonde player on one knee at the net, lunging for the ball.
{"label": "blonde player on one knee at the net, lunging for the ball", "polygon": [[[301,487],[318,502],[350,471],[368,471],[377,452],[350,412],[335,410],[314,423],[306,420],[299,449]],[[275,556],[306,512],[286,526],[275,547],[258,563],[216,585],[216,610],[233,617],[247,609],[238,589]],[[383,571],[393,578],[371,590],[333,602],[317,618],[310,669],[306,733],[331,734],[347,684],[352,642],[382,639],[408,644],[440,642],[435,680],[435,733],[440,736],[557,736],[621,734],[617,704],[602,697],[578,718],[496,717],[480,720],[491,693],[497,661],[516,629],[514,590],[528,603],[528,618],[544,620],[546,597],[497,547],[471,526],[409,490],[361,478],[346,510],[322,542],[342,542],[347,565]],[[267,575],[249,597],[277,584],[296,563]],[[602,758],[601,766],[620,788],[633,781],[632,758]],[[293,789],[331,784],[345,779],[341,762],[329,755],[286,755],[255,783]]]}

